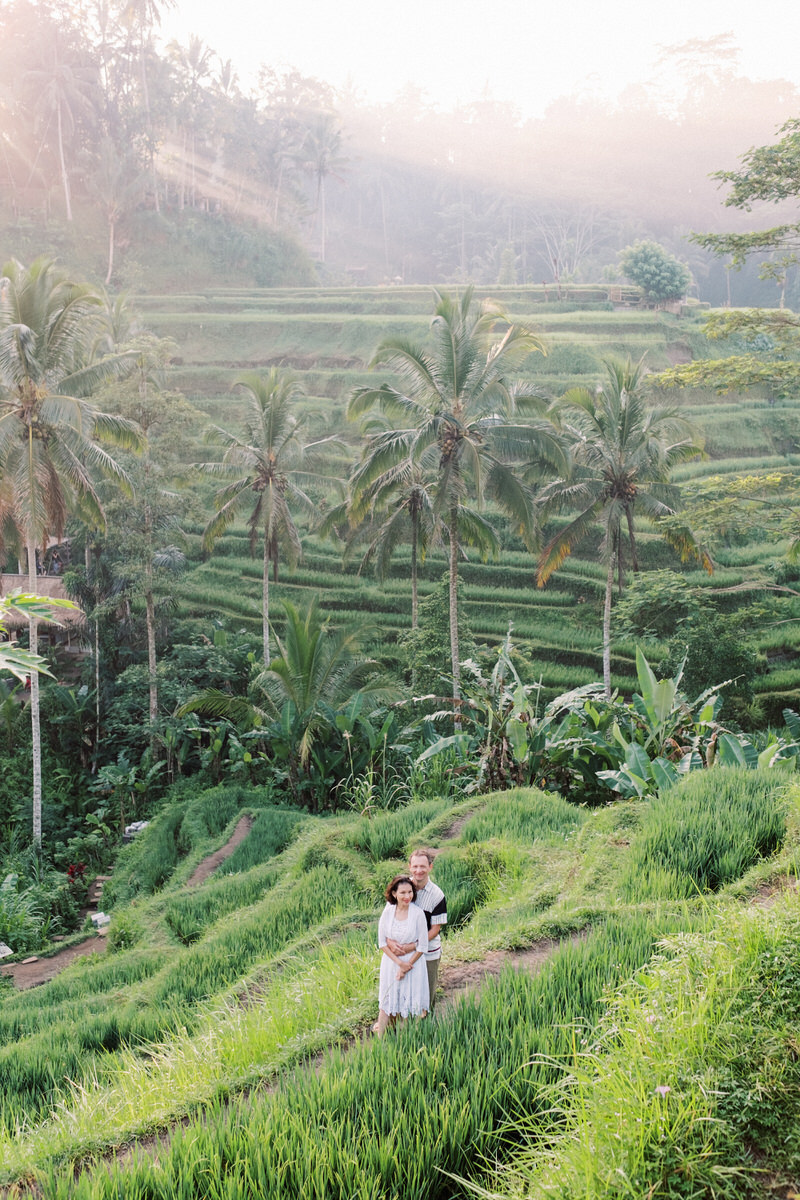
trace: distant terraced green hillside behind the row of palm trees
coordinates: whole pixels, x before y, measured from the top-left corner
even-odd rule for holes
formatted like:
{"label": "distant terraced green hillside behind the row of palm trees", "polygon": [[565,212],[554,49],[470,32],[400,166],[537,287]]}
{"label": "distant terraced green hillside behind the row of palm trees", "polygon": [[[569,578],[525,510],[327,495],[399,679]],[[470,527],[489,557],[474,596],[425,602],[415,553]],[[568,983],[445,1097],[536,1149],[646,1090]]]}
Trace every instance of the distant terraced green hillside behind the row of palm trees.
{"label": "distant terraced green hillside behind the row of palm trees", "polygon": [[[535,379],[547,395],[566,388],[594,386],[607,355],[646,355],[648,366],[660,370],[703,354],[705,342],[698,316],[616,310],[599,299],[603,293],[576,292],[555,301],[553,289],[494,288],[498,299],[515,317],[531,324],[542,336],[547,356],[533,355],[523,373]],[[198,409],[198,433],[206,419],[235,428],[241,409],[230,386],[246,368],[281,365],[300,377],[307,413],[317,431],[338,432],[359,450],[359,431],[348,426],[344,409],[353,388],[374,383],[368,362],[378,342],[390,335],[422,340],[429,322],[432,293],[428,288],[341,288],[329,290],[219,289],[193,295],[148,295],[140,307],[146,325],[178,346],[170,385],[184,391]],[[770,402],[757,396],[709,394],[680,401],[705,439],[706,460],[688,464],[678,478],[697,480],[717,473],[747,468],[795,464],[800,451],[798,422],[800,401]],[[198,454],[203,452],[197,450]],[[345,473],[347,462],[342,470]],[[199,535],[201,526],[193,533]],[[639,532],[644,568],[680,569],[675,556],[660,538]],[[688,571],[692,583],[711,588],[741,586],[730,593],[729,605],[763,599],[770,564],[786,547],[739,542],[715,547],[717,570],[712,578]],[[199,539],[197,542],[199,547]],[[429,593],[445,569],[444,554],[432,553],[423,568],[421,593]],[[357,560],[342,566],[339,550],[314,536],[305,541],[305,560],[295,571],[282,572],[276,595],[302,598],[309,589],[320,593],[324,611],[353,614],[367,611],[391,642],[410,624],[408,558],[397,554],[389,580],[379,583],[357,574]],[[603,572],[596,547],[585,547],[558,571],[542,592],[534,581],[534,562],[513,536],[504,539],[497,563],[470,559],[464,564],[465,612],[481,642],[492,643],[513,620],[515,636],[541,673],[547,695],[596,679],[600,674],[600,598]],[[198,617],[221,613],[257,628],[259,622],[260,564],[248,556],[245,530],[234,530],[218,551],[198,563],[179,584],[187,610]],[[748,589],[747,584],[752,584]],[[798,704],[800,672],[795,652],[800,624],[783,600],[759,626],[764,654],[758,691],[770,715],[780,718],[784,703]],[[279,606],[273,616],[279,620]],[[651,658],[658,658],[658,646]],[[633,647],[618,642],[613,656],[613,682],[633,685]]]}

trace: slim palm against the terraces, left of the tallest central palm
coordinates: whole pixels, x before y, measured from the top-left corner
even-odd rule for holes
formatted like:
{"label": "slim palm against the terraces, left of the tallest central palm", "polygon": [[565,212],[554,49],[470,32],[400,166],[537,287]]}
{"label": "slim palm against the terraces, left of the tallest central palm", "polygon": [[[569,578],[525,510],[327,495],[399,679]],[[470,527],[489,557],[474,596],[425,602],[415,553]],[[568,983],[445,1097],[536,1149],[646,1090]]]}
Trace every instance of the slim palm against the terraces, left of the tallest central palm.
{"label": "slim palm against the terraces, left of the tallest central palm", "polygon": [[270,565],[273,582],[278,581],[281,556],[294,566],[302,557],[300,533],[291,515],[291,505],[313,516],[315,508],[305,492],[308,484],[319,482],[315,468],[321,462],[323,448],[338,444],[336,438],[321,438],[305,444],[302,421],[293,404],[302,396],[294,376],[272,367],[266,374],[249,371],[240,376],[234,388],[247,396],[245,434],[237,437],[218,425],[206,430],[206,440],[221,446],[221,462],[200,463],[201,470],[228,476],[231,481],[215,496],[216,516],[203,534],[203,547],[210,551],[217,538],[235,521],[243,505],[252,504],[247,524],[251,554],[261,540],[264,572],[261,586],[261,616],[264,662],[270,661]]}

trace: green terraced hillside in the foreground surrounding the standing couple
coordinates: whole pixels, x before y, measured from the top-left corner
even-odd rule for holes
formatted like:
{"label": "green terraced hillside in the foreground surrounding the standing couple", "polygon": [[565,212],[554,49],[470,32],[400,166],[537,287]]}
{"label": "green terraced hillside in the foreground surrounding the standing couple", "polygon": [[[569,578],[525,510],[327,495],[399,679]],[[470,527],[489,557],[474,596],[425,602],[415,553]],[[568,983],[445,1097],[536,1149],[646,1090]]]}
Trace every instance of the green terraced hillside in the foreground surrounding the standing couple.
{"label": "green terraced hillside in the foreground surrounding the standing couple", "polygon": [[[263,788],[174,793],[103,889],[102,953],[4,991],[0,1188],[46,1200],[465,1198],[464,1181],[486,1186],[492,1164],[542,1139],[559,1147],[582,1105],[553,1103],[553,1087],[579,1058],[606,1087],[636,1086],[614,1096],[627,1121],[607,1140],[594,1135],[602,1111],[584,1109],[610,1178],[652,1145],[627,1194],[685,1194],[649,1192],[664,1080],[685,1102],[669,1145],[691,1157],[702,1138],[694,1171],[724,1180],[758,1156],[796,1184],[798,790],[776,772],[716,774],[693,774],[663,803],[594,811],[535,788],[372,818],[279,809]],[[198,880],[242,823],[247,836]],[[447,896],[447,1003],[369,1040],[383,888],[419,845],[438,848]],[[781,889],[774,911],[752,904]],[[467,980],[486,986],[459,997]],[[614,1024],[620,988],[631,1010]],[[432,1094],[437,1132],[421,1138]],[[563,1152],[569,1163],[569,1140]],[[511,1186],[509,1200],[518,1194]]]}

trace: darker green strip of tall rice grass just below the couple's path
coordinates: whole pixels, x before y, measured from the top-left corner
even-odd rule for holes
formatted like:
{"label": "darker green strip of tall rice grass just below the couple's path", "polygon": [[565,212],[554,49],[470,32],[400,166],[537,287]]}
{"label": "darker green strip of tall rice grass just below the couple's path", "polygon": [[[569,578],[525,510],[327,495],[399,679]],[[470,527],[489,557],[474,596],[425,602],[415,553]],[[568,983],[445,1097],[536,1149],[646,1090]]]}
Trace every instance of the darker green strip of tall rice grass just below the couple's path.
{"label": "darker green strip of tall rice grass just below the couple's path", "polygon": [[[50,1171],[49,1200],[444,1200],[452,1175],[506,1157],[531,1112],[547,1120],[547,1087],[593,1024],[602,998],[684,920],[612,920],[563,949],[541,974],[507,972],[447,1018],[333,1055],[289,1079],[190,1121],[160,1162],[103,1165],[76,1180]],[[425,1132],[428,1135],[425,1135]]]}

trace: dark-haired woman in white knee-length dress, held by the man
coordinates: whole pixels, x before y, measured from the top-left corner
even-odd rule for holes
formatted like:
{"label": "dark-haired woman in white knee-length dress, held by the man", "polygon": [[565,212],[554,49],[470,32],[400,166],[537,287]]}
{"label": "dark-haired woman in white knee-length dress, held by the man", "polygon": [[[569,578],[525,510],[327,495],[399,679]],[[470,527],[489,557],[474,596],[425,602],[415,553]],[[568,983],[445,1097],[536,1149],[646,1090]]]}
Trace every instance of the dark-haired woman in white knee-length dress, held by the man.
{"label": "dark-haired woman in white knee-length dress, held by the man", "polygon": [[[387,886],[386,907],[378,925],[380,960],[380,1012],[373,1025],[380,1036],[392,1018],[427,1016],[428,972],[425,952],[428,926],[425,913],[414,901],[416,887],[408,875],[396,875]],[[405,947],[414,946],[408,950]]]}

